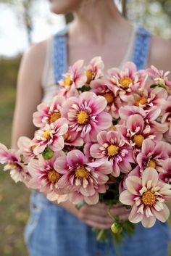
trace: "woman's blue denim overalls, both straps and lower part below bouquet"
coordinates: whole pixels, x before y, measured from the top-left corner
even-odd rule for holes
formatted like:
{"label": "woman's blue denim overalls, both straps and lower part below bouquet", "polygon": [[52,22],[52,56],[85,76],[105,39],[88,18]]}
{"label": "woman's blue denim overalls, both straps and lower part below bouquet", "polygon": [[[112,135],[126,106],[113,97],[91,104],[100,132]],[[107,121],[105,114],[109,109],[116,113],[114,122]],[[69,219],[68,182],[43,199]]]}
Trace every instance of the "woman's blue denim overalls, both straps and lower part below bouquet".
{"label": "woman's blue denim overalls, both straps and lower part below bouquet", "polygon": [[[67,28],[54,36],[52,62],[58,81],[67,71]],[[146,67],[151,36],[138,28],[132,60],[138,70]],[[30,256],[116,256],[112,237],[99,243],[91,227],[86,226],[62,207],[49,202],[38,192],[30,200],[31,216],[25,228],[25,242]],[[166,223],[153,228],[137,225],[133,238],[125,236],[120,245],[122,256],[167,256],[170,230]]]}

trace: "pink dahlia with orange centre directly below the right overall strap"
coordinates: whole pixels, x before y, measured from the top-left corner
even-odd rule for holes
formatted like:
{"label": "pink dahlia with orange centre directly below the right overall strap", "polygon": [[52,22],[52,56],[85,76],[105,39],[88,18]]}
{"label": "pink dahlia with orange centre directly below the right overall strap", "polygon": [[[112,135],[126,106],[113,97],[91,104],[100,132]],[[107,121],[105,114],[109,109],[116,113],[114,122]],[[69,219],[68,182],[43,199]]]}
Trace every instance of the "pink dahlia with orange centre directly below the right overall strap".
{"label": "pink dahlia with orange centre directly below the right overall strap", "polygon": [[109,70],[109,77],[120,99],[128,102],[133,98],[133,91],[143,91],[147,75],[144,70],[137,71],[133,62],[126,62],[122,70],[115,67]]}

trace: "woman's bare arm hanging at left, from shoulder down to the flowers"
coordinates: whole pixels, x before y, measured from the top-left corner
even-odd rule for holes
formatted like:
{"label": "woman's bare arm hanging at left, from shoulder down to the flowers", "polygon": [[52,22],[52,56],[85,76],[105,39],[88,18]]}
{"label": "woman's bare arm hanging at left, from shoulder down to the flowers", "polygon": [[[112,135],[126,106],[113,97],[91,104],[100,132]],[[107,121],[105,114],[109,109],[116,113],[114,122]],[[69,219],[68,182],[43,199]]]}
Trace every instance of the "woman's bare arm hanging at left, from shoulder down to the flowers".
{"label": "woman's bare arm hanging at left, from shoulder down to the flowers", "polygon": [[12,148],[20,136],[33,138],[33,112],[41,103],[41,77],[46,55],[46,41],[30,47],[22,57],[17,79],[17,99],[12,125]]}

